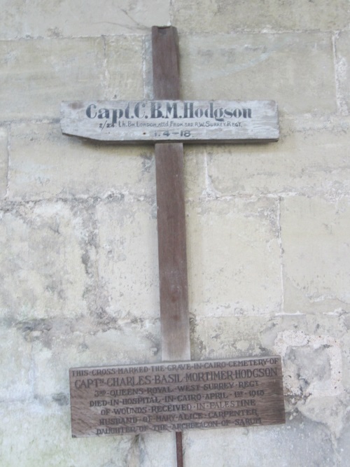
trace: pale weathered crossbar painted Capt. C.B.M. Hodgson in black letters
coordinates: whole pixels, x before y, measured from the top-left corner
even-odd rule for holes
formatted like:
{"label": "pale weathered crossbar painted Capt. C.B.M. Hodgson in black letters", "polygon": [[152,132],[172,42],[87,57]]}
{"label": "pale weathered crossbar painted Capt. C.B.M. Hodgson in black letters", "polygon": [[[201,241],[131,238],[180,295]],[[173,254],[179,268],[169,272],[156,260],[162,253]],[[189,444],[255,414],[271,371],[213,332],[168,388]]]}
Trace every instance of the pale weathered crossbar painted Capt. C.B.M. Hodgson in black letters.
{"label": "pale weathered crossbar painted Capt. C.B.M. Hodgson in black letters", "polygon": [[99,141],[277,141],[274,101],[62,102],[62,132]]}

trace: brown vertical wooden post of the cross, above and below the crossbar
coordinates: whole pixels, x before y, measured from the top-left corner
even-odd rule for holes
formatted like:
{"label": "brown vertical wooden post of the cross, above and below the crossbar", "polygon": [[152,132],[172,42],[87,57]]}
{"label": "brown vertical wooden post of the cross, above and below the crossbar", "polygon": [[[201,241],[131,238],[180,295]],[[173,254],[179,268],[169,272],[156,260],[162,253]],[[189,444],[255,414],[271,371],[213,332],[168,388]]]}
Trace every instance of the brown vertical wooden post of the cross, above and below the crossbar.
{"label": "brown vertical wooden post of the cross, above and below the crossbar", "polygon": [[[180,98],[176,28],[153,27],[154,99]],[[183,145],[155,144],[162,360],[190,360]]]}

